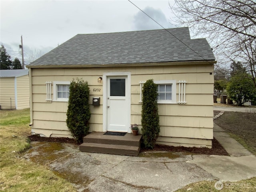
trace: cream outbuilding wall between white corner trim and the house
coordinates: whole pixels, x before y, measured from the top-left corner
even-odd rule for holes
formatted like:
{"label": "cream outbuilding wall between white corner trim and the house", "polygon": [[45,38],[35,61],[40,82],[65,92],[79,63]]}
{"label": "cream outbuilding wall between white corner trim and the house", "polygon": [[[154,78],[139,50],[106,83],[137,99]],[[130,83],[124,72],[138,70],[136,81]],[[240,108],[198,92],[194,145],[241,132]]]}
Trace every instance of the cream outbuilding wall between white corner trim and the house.
{"label": "cream outbuilding wall between white corner trim and the house", "polygon": [[17,109],[29,108],[29,78],[28,75],[17,77]]}

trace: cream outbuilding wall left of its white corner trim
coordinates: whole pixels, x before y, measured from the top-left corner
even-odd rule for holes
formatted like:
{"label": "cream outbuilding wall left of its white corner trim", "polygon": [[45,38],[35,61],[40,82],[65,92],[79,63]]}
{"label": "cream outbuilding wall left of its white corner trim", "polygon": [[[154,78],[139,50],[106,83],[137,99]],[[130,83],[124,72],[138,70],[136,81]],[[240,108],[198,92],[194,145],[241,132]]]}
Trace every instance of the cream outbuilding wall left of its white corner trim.
{"label": "cream outbuilding wall left of its white corner trim", "polygon": [[0,105],[1,109],[16,109],[14,77],[0,78]]}

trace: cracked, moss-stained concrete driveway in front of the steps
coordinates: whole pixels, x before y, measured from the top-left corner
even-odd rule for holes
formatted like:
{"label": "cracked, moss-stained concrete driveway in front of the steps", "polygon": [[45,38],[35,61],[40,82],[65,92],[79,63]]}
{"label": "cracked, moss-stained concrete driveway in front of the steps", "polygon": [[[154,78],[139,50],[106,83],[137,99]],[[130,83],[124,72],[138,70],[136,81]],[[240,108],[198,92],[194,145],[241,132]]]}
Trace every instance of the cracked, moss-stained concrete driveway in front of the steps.
{"label": "cracked, moss-stained concrete driveway in front of the steps", "polygon": [[80,192],[170,192],[201,180],[256,176],[255,156],[146,152],[134,157],[80,152],[72,144],[32,142],[32,146],[23,158],[48,166]]}

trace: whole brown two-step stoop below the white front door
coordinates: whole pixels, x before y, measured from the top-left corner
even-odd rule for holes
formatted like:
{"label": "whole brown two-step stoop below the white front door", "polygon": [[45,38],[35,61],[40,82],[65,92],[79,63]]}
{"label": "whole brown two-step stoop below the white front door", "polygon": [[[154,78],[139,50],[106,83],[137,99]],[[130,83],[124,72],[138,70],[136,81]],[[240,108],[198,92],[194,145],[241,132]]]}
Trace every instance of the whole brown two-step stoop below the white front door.
{"label": "whole brown two-step stoop below the white front door", "polygon": [[106,153],[116,155],[138,156],[142,135],[125,136],[103,135],[104,132],[92,132],[84,137],[79,146],[81,152]]}

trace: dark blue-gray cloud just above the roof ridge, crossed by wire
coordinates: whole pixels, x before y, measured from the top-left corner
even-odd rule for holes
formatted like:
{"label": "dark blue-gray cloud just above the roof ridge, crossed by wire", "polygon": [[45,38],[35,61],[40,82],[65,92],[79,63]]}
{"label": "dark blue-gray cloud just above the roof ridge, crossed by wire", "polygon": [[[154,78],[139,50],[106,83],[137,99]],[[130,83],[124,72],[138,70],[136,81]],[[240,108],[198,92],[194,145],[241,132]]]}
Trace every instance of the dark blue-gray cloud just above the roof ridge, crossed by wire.
{"label": "dark blue-gray cloud just above the roof ridge, crossed by wire", "polygon": [[[151,18],[153,18],[156,22],[162,25],[164,28],[173,28],[174,26],[168,22],[166,16],[160,9],[154,9],[152,7],[146,7],[143,10],[146,14],[148,14]],[[160,25],[154,22],[151,18],[146,16],[142,11],[139,11],[134,16],[134,27],[135,30],[152,30],[152,29],[162,29]]]}

